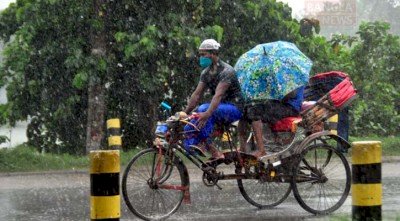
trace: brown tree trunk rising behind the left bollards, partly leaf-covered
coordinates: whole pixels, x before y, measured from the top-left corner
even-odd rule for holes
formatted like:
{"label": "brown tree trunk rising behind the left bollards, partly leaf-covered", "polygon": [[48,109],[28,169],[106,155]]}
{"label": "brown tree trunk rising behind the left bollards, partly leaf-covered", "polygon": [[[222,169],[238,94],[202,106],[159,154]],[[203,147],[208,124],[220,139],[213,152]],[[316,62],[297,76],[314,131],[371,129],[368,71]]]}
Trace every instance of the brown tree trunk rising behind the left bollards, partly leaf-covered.
{"label": "brown tree trunk rising behind the left bollards, partly leaf-covered", "polygon": [[[105,0],[93,0],[94,6],[94,19],[98,19],[104,24],[105,11],[102,10],[105,7]],[[100,61],[106,56],[107,42],[106,32],[103,27],[92,30],[91,34],[92,49],[91,54]],[[94,68],[95,71],[100,72],[97,66]],[[94,76],[89,77],[88,85],[88,122],[86,125],[86,153],[91,150],[101,149],[101,142],[104,138],[104,116],[105,116],[105,87],[101,73],[96,73]]]}

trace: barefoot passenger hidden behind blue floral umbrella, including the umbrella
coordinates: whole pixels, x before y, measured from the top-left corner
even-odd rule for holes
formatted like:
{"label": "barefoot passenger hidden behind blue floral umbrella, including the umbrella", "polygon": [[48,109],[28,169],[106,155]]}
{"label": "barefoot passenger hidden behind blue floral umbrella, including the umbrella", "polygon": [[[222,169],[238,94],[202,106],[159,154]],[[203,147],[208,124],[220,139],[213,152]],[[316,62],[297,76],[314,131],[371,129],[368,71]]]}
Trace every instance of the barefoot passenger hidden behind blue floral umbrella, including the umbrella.
{"label": "barefoot passenger hidden behind blue floral umbrella, including the umbrella", "polygon": [[[243,121],[253,128],[258,147],[255,157],[266,154],[263,122],[272,126],[283,118],[299,116],[311,67],[312,61],[286,41],[259,44],[238,59],[235,71],[246,101]],[[239,127],[242,151],[246,145],[243,131]]]}

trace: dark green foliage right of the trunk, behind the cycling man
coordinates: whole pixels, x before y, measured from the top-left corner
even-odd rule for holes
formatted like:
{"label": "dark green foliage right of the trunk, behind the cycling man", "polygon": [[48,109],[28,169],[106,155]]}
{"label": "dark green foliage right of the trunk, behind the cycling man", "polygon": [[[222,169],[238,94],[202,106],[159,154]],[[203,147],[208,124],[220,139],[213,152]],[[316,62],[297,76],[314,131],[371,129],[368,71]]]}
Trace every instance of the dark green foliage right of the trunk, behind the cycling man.
{"label": "dark green foliage right of the trunk, behind the cycling man", "polygon": [[[290,8],[275,1],[123,4],[124,7],[116,7],[120,11],[115,13],[121,18],[114,19],[135,16],[115,33],[116,48],[121,52],[117,63],[124,68],[120,68],[120,79],[116,78],[110,87],[115,98],[111,106],[124,107],[114,111],[123,116],[124,143],[129,146],[151,139],[150,125],[154,125],[162,100],[172,104],[174,110],[183,108],[198,81],[196,53],[202,39],[220,41],[223,59],[234,64],[244,51],[258,43],[300,37]],[[149,17],[149,13],[153,16]],[[123,71],[130,68],[134,74],[126,75]],[[126,90],[117,90],[122,87]],[[138,108],[141,106],[146,109]]]}

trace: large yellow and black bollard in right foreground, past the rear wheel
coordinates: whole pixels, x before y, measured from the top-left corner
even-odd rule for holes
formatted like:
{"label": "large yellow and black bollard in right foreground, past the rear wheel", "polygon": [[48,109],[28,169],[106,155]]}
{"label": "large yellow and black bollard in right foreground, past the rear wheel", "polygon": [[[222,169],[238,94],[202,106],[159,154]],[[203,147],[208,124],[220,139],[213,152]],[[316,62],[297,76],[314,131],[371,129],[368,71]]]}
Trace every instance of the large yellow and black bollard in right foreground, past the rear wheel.
{"label": "large yellow and black bollard in right foreground, past the rear wheel", "polygon": [[353,220],[382,220],[382,147],[380,141],[353,143]]}

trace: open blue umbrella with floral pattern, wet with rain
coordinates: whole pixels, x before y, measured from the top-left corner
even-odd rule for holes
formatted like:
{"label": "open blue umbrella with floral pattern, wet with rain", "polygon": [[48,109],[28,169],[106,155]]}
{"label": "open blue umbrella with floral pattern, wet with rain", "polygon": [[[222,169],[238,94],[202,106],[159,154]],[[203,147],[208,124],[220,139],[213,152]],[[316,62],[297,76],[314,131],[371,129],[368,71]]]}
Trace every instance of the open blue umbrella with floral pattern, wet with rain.
{"label": "open blue umbrella with floral pattern, wet with rain", "polygon": [[312,61],[294,44],[259,44],[240,56],[235,71],[246,101],[281,100],[308,83]]}

